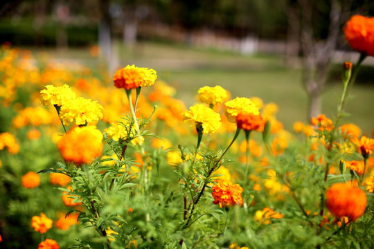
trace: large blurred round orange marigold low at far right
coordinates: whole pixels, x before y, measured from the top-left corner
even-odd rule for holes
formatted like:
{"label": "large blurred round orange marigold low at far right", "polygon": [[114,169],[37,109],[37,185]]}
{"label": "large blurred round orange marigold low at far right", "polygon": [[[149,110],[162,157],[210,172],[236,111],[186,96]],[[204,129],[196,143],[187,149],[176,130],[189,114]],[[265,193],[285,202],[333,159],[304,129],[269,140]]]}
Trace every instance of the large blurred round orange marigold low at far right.
{"label": "large blurred round orange marigold low at far right", "polygon": [[365,192],[351,183],[335,183],[326,192],[326,206],[337,217],[355,221],[364,214],[366,203]]}

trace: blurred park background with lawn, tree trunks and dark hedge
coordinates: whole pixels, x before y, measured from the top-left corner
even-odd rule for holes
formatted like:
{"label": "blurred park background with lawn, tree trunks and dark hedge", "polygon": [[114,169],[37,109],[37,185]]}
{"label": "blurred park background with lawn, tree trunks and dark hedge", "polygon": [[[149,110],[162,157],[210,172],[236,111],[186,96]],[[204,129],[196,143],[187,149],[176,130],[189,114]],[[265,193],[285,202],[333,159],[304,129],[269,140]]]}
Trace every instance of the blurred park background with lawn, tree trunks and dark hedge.
{"label": "blurred park background with lawn, tree trunks and dark hedge", "polygon": [[[202,86],[278,105],[286,129],[325,113],[333,118],[341,69],[359,54],[345,22],[374,15],[371,0],[3,0],[0,42],[113,73],[154,68],[186,107]],[[348,120],[371,135],[374,59],[352,89]],[[105,82],[112,84],[112,82]]]}

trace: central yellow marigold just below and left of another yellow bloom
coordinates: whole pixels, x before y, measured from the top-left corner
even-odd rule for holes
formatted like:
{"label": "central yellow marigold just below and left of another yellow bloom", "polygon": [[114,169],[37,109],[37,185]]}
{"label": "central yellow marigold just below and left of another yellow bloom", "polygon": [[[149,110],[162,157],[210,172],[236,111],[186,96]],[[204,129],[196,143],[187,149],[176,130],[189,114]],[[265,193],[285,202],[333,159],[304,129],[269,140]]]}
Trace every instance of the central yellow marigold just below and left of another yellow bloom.
{"label": "central yellow marigold just below and left of another yellow bloom", "polygon": [[183,122],[194,121],[195,124],[201,124],[204,134],[215,133],[221,126],[220,114],[203,104],[196,104],[182,114],[184,115]]}

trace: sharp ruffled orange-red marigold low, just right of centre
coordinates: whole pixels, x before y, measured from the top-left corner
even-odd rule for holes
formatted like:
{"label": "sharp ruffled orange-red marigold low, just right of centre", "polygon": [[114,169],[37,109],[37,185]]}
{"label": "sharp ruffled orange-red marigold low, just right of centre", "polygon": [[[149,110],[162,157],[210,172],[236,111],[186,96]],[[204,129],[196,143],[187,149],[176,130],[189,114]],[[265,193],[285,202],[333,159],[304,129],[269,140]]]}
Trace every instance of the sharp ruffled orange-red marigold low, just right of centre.
{"label": "sharp ruffled orange-red marigold low, just right of centre", "polygon": [[220,208],[242,205],[242,192],[243,188],[239,184],[221,180],[212,187],[213,204],[218,204]]}

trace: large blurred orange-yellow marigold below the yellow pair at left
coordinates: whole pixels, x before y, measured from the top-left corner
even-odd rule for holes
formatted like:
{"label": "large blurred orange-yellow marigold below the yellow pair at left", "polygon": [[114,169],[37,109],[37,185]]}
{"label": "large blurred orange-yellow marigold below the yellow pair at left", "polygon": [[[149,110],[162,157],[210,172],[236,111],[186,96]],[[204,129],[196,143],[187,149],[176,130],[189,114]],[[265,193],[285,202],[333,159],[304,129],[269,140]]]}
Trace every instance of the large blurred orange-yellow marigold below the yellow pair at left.
{"label": "large blurred orange-yellow marigold below the yellow pair at left", "polygon": [[103,133],[94,126],[75,127],[57,142],[57,147],[66,162],[89,164],[103,151],[102,140]]}

